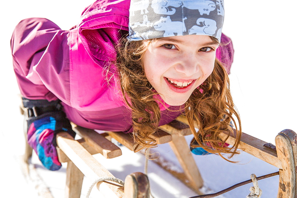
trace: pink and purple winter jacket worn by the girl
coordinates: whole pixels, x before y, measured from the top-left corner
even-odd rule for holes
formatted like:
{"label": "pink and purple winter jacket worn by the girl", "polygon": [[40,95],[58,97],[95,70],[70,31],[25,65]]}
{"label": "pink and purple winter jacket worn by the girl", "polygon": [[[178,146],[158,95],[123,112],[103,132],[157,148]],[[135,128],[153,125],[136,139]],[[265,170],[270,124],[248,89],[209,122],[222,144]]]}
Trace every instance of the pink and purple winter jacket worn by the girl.
{"label": "pink and purple winter jacket worn by the girl", "polygon": [[[61,30],[44,18],[22,20],[11,39],[13,66],[21,94],[28,99],[60,99],[67,118],[82,127],[132,132],[131,113],[121,100],[116,79],[107,84],[102,70],[116,57],[114,45],[128,31],[129,0],[98,0],[77,26]],[[230,39],[222,34],[217,57],[229,72]],[[180,112],[161,108],[161,124]],[[179,106],[169,106],[171,110]]]}

